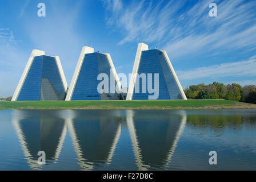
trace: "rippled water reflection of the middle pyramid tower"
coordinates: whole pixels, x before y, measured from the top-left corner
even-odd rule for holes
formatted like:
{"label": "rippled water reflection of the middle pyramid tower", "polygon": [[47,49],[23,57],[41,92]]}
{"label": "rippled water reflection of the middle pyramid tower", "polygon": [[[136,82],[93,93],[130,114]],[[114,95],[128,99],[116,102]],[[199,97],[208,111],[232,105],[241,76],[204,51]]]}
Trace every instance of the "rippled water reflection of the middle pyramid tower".
{"label": "rippled water reflection of the middle pyramid tower", "polygon": [[71,112],[75,118],[69,121],[69,131],[79,165],[90,170],[96,166],[110,164],[121,134],[118,116],[107,115],[107,111],[102,110]]}

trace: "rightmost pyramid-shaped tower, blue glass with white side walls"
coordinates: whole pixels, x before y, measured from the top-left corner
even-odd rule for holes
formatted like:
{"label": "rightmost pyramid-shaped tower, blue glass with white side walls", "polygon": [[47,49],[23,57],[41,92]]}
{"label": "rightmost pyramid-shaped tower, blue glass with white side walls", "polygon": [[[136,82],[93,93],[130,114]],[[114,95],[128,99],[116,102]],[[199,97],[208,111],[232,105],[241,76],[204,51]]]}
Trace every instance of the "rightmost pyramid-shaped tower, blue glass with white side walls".
{"label": "rightmost pyramid-shaped tower, blue glass with white side walls", "polygon": [[[159,88],[157,100],[187,100],[167,53],[158,49],[149,50],[149,47],[144,43],[138,44],[133,67],[134,76],[131,77],[126,100],[149,100],[152,96],[147,85],[144,85],[144,89],[147,89],[146,93],[142,92],[143,84],[139,77],[142,73],[153,75],[153,88],[155,86],[154,74],[159,74],[159,79],[156,81]],[[135,92],[137,85],[139,86],[139,93]]]}

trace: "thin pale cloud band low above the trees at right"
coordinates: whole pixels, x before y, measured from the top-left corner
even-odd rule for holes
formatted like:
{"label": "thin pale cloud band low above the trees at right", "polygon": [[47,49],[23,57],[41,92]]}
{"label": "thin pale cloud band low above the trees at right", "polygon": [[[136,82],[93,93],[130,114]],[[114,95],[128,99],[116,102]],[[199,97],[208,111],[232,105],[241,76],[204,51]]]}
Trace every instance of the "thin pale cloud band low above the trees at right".
{"label": "thin pale cloud band low above the trees at right", "polygon": [[177,75],[181,80],[194,80],[205,77],[256,76],[256,57],[253,56],[249,60],[234,63],[224,63],[186,71],[177,71]]}

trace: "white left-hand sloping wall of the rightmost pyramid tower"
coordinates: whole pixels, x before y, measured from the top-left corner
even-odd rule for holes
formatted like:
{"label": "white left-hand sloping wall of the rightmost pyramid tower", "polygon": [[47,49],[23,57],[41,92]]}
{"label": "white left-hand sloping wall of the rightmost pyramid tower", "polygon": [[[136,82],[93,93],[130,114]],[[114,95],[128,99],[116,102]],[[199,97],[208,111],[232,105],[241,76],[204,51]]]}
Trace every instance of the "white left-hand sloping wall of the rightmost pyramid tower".
{"label": "white left-hand sloping wall of the rightmost pyramid tower", "polygon": [[147,46],[147,44],[144,44],[144,43],[138,44],[138,48],[137,48],[137,52],[136,52],[136,56],[135,56],[135,60],[134,60],[134,65],[133,65],[133,73],[130,78],[131,80],[129,82],[129,88],[128,88],[126,100],[133,99],[133,90],[134,90],[135,80],[137,78],[137,73],[138,73],[138,69],[139,69],[139,61],[141,61],[141,52],[147,51],[147,50],[149,50],[149,46]]}

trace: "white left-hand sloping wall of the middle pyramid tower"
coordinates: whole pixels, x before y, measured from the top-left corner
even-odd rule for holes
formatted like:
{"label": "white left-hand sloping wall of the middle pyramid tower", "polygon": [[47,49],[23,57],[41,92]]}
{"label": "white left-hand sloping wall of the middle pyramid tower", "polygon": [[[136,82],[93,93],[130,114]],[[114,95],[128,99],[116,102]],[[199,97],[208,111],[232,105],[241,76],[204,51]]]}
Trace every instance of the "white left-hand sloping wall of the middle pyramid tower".
{"label": "white left-hand sloping wall of the middle pyramid tower", "polygon": [[79,72],[83,64],[83,57],[85,57],[86,53],[93,53],[93,52],[94,52],[94,48],[92,47],[84,46],[82,48],[82,51],[78,59],[77,67],[75,67],[75,72],[69,86],[69,90],[67,90],[66,101],[71,101],[71,97],[73,96],[75,84],[77,83],[77,78],[79,76]]}

